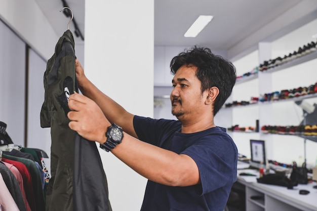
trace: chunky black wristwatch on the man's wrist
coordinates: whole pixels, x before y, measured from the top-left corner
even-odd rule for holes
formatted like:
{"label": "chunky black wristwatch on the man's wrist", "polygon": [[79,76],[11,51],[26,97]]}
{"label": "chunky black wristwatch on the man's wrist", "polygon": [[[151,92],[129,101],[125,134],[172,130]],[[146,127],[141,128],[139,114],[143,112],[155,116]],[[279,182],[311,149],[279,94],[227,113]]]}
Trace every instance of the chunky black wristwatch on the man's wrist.
{"label": "chunky black wristwatch on the man's wrist", "polygon": [[103,144],[100,144],[100,148],[109,152],[116,145],[120,144],[123,139],[123,130],[120,126],[112,123],[111,126],[108,127],[106,133],[107,141]]}

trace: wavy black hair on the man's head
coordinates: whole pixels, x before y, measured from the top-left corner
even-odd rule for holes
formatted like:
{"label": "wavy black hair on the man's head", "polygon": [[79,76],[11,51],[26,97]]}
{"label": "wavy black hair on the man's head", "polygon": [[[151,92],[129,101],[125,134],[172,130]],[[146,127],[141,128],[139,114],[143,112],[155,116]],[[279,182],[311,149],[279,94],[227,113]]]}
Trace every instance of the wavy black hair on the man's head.
{"label": "wavy black hair on the man's head", "polygon": [[234,65],[221,56],[213,54],[209,48],[199,46],[185,49],[175,56],[170,64],[171,73],[175,75],[183,65],[197,67],[196,76],[202,82],[202,93],[212,87],[219,89],[219,95],[214,103],[215,116],[231,95],[236,79]]}

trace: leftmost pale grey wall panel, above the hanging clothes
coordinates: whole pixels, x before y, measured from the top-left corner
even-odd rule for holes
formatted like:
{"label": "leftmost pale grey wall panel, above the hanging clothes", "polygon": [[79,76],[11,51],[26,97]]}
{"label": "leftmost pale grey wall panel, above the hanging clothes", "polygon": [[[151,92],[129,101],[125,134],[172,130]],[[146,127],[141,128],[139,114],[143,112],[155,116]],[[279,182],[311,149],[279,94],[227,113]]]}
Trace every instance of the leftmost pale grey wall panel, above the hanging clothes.
{"label": "leftmost pale grey wall panel, above the hanging clothes", "polygon": [[13,143],[24,144],[25,44],[0,21],[0,121]]}

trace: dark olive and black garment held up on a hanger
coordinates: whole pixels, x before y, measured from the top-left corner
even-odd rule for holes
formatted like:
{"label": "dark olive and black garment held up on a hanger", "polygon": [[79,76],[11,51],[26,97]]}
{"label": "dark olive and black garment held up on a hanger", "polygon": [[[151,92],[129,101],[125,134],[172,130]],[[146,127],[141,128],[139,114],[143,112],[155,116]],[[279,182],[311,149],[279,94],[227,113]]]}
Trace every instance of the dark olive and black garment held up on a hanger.
{"label": "dark olive and black garment held up on a hanger", "polygon": [[41,126],[51,128],[52,138],[46,210],[112,210],[96,144],[68,126],[68,96],[74,90],[78,92],[75,76],[74,39],[67,30],[58,40],[44,74]]}

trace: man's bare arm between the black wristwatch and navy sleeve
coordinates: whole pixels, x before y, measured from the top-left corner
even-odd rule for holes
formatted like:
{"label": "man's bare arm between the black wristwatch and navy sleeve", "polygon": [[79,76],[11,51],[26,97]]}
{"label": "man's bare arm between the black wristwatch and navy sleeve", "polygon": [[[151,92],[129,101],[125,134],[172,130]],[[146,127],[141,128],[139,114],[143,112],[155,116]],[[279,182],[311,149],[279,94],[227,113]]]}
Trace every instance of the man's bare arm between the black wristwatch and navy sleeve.
{"label": "man's bare arm between the black wristwatch and navy sleeve", "polygon": [[143,177],[169,186],[200,183],[199,171],[188,155],[153,146],[125,134],[111,152]]}

